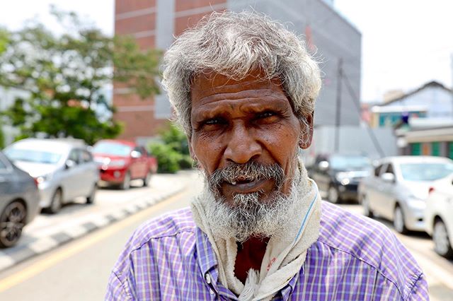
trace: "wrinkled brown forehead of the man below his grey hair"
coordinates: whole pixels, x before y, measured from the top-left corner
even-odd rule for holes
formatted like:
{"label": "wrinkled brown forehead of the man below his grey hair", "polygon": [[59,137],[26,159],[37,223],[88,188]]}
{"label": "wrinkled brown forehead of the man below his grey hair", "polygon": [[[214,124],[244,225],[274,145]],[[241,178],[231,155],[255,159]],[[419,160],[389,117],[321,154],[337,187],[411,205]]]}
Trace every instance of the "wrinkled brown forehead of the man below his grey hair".
{"label": "wrinkled brown forehead of the man below his grey hair", "polygon": [[216,72],[203,72],[193,78],[190,87],[192,100],[217,94],[239,93],[241,91],[274,90],[284,93],[279,78],[267,79],[258,71],[248,73],[240,80]]}

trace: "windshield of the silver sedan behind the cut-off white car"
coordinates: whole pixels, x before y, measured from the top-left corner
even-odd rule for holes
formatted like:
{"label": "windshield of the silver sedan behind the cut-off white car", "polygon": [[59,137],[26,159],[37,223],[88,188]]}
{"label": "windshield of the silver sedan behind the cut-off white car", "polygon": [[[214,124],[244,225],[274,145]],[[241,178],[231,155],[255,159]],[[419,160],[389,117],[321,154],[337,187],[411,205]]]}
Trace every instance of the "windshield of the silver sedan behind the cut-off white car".
{"label": "windshield of the silver sedan behind the cut-off white car", "polygon": [[433,181],[453,174],[451,163],[405,163],[401,175],[406,181]]}

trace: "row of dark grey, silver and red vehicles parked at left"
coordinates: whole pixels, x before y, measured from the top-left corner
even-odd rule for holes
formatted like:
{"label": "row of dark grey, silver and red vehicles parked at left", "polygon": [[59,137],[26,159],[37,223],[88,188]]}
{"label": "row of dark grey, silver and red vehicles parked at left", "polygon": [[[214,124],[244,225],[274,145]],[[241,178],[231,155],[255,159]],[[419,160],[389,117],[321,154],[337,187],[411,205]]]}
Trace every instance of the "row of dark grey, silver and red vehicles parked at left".
{"label": "row of dark grey, silver and red vehicles parked at left", "polygon": [[93,203],[98,184],[129,189],[132,179],[147,186],[156,158],[135,143],[26,138],[0,152],[0,247],[11,247],[40,212],[57,213],[84,197]]}

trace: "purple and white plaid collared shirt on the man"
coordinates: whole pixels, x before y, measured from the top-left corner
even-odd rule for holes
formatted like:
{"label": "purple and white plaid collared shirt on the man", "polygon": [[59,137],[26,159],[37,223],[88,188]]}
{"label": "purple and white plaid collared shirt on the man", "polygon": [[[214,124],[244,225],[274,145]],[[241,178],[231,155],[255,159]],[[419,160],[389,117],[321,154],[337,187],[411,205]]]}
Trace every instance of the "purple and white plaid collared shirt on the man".
{"label": "purple and white plaid collared shirt on the man", "polygon": [[[185,208],[134,232],[105,300],[238,300],[218,278],[212,245]],[[423,272],[390,230],[323,202],[319,239],[273,300],[428,299]]]}

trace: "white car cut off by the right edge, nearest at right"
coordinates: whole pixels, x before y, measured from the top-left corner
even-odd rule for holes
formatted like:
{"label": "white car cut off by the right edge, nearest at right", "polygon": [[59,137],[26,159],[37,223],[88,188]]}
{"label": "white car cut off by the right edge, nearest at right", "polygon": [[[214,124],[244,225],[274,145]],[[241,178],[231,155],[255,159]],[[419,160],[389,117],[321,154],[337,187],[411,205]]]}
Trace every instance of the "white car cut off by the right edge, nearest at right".
{"label": "white car cut off by the right edge, nearest at right", "polygon": [[426,201],[425,225],[434,240],[435,252],[453,258],[453,176],[432,185]]}

